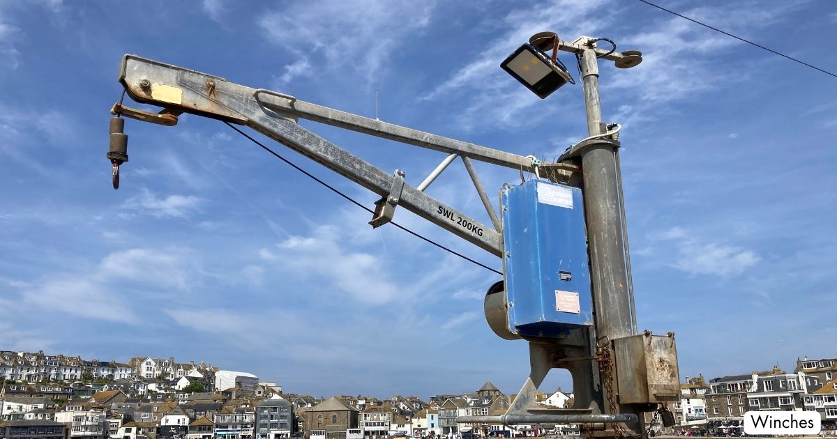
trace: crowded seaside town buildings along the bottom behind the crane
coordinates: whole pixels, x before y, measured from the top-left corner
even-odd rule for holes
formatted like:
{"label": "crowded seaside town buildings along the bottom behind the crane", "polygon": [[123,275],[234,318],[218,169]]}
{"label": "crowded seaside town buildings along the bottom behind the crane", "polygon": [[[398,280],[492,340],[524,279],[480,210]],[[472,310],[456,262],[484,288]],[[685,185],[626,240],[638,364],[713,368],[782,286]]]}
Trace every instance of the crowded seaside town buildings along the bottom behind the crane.
{"label": "crowded seaside town buildings along the bottom behind the crane", "polygon": [[[668,409],[672,431],[734,434],[747,411],[816,411],[824,430],[837,426],[837,359],[798,359],[793,372],[778,366],[706,380],[686,377],[680,401]],[[172,357],[85,360],[0,350],[0,439],[448,439],[579,435],[578,426],[503,426],[457,422],[458,416],[498,416],[515,395],[490,381],[478,391],[431,396],[313,396],[287,393],[274,381]],[[573,406],[573,394],[538,392],[537,404]]]}

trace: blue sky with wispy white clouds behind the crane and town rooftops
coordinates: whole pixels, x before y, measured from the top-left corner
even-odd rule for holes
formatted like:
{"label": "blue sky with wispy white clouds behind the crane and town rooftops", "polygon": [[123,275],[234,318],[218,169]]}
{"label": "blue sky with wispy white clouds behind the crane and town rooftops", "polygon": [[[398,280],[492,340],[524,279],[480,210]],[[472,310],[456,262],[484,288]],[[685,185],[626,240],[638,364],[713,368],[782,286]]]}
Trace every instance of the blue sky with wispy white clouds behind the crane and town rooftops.
{"label": "blue sky with wispy white clouds behind the crane and town rooftops", "polygon": [[[837,71],[837,4],[663,4]],[[516,392],[526,343],[482,317],[495,273],[373,231],[214,120],[128,120],[114,191],[106,130],[131,53],[372,117],[379,88],[382,120],[552,160],[586,135],[580,87],[540,100],[499,68],[543,30],[644,53],[603,65],[603,114],[624,125],[639,328],[675,331],[681,378],[837,355],[837,80],[629,0],[0,2],[0,349],[203,360],[318,396]],[[444,158],[302,125],[413,185]],[[492,194],[520,180],[476,166]],[[490,223],[459,162],[429,193]]]}

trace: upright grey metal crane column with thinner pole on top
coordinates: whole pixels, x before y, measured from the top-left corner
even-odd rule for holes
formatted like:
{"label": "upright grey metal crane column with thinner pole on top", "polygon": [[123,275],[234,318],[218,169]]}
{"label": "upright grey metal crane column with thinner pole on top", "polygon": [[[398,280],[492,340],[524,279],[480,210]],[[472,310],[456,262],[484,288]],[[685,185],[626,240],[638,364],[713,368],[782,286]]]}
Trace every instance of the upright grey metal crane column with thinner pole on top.
{"label": "upright grey metal crane column with thinner pole on top", "polygon": [[[581,68],[588,132],[589,135],[602,134],[605,128],[598,97],[598,64],[594,50],[583,51]],[[608,340],[634,333],[628,268],[625,263],[624,218],[619,205],[621,182],[614,154],[614,147],[606,143],[590,145],[582,152],[596,337],[606,337]],[[605,401],[615,398],[614,395],[607,395],[606,389],[601,391]],[[607,410],[608,404],[605,403],[604,407]],[[641,411],[633,406],[620,406],[619,411],[639,415],[637,421],[629,422],[628,426],[641,434],[644,429]]]}

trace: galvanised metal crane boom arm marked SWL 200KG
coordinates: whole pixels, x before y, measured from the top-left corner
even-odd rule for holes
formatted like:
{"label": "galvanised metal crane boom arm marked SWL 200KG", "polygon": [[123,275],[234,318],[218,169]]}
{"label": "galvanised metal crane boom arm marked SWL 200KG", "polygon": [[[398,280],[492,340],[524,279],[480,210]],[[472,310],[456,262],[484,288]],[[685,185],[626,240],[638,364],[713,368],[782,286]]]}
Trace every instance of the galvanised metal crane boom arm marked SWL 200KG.
{"label": "galvanised metal crane boom arm marked SWL 200KG", "polygon": [[[468,158],[526,171],[533,169],[533,163],[537,163],[531,157],[517,156],[485,146],[328,109],[296,100],[286,94],[265,89],[251,89],[218,76],[130,54],[122,59],[119,80],[132,100],[162,106],[166,109],[164,112],[169,114],[191,113],[234,124],[248,125],[381,195],[384,197],[382,202],[389,202],[393,207],[403,206],[419,217],[434,222],[439,227],[498,257],[502,254],[499,230],[486,227],[434,197],[429,197],[422,191],[426,185],[422,185],[424,186],[422,190],[406,183],[401,186],[403,173],[400,171],[391,175],[372,166],[360,157],[297,125],[295,118],[305,117],[370,135],[455,154],[461,156],[469,168]],[[133,117],[127,112],[125,115]],[[476,186],[481,192],[481,186],[478,184]],[[484,195],[480,193],[481,197]],[[489,212],[491,217],[493,212]]]}

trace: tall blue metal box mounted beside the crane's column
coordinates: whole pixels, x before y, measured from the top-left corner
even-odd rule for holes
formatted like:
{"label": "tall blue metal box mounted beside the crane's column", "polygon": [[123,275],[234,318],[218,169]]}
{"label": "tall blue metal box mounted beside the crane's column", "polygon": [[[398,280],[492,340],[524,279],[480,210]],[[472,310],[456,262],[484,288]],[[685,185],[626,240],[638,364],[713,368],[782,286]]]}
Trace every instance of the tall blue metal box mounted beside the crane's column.
{"label": "tall blue metal box mounted beside the crane's column", "polygon": [[554,337],[592,326],[581,190],[530,180],[504,185],[501,203],[511,333]]}

